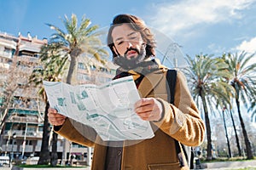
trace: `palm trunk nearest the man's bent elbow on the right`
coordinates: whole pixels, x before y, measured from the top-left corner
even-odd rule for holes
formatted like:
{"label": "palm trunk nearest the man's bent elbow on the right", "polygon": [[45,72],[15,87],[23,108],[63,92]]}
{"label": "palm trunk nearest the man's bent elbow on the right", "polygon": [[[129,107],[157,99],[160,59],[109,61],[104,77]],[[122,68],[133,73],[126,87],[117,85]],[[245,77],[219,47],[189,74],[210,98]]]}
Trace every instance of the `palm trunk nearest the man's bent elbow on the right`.
{"label": "palm trunk nearest the man's bent elbow on the right", "polygon": [[212,160],[212,136],[209,113],[207,110],[207,102],[203,95],[201,95],[202,104],[205,112],[206,127],[207,127],[207,160]]}

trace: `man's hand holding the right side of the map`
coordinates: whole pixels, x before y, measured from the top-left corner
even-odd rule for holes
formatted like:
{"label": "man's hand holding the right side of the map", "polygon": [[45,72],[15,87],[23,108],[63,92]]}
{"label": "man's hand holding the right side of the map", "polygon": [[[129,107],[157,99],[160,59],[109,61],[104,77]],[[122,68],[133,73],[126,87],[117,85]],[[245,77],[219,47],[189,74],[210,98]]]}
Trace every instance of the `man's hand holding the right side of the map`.
{"label": "man's hand holding the right side of the map", "polygon": [[144,121],[160,121],[162,111],[160,101],[154,98],[143,98],[135,104],[135,112]]}

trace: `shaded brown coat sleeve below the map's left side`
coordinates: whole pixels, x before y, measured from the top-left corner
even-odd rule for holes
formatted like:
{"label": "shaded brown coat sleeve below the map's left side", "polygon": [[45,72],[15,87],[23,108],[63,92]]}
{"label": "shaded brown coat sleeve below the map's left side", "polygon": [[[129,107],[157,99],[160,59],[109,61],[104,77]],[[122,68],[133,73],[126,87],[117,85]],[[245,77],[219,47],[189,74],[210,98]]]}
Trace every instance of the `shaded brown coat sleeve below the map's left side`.
{"label": "shaded brown coat sleeve below the map's left side", "polygon": [[54,127],[55,133],[72,142],[93,147],[96,140],[96,131],[73,119],[67,118],[61,127]]}

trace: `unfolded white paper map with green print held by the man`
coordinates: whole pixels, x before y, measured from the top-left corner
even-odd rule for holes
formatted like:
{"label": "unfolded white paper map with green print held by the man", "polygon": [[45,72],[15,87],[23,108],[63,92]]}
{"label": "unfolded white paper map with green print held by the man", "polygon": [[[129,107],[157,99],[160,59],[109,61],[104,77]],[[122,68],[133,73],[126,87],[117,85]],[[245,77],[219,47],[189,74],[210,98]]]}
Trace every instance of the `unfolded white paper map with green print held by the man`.
{"label": "unfolded white paper map with green print held by the man", "polygon": [[105,141],[154,137],[150,123],[134,111],[140,96],[132,77],[119,78],[101,86],[44,81],[44,88],[50,107],[93,127]]}

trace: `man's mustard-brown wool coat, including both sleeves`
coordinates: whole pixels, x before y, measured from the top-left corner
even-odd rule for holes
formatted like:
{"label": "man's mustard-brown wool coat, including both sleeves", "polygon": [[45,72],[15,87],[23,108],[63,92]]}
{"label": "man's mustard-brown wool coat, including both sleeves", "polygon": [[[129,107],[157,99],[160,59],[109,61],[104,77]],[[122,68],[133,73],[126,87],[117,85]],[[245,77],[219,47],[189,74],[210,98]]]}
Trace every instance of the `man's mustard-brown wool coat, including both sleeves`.
{"label": "man's mustard-brown wool coat, including both sleeves", "polygon": [[[154,129],[154,138],[124,141],[122,170],[189,169],[179,166],[173,139],[189,146],[199,145],[203,141],[204,122],[189,93],[186,78],[181,71],[177,71],[175,105],[171,105],[166,101],[166,71],[162,69],[148,74],[138,88],[141,97],[154,97],[161,102],[164,116],[160,122],[150,122]],[[76,124],[75,127],[73,123]],[[106,143],[92,128],[67,119],[56,133],[73,142],[94,147],[91,169],[104,170]]]}

